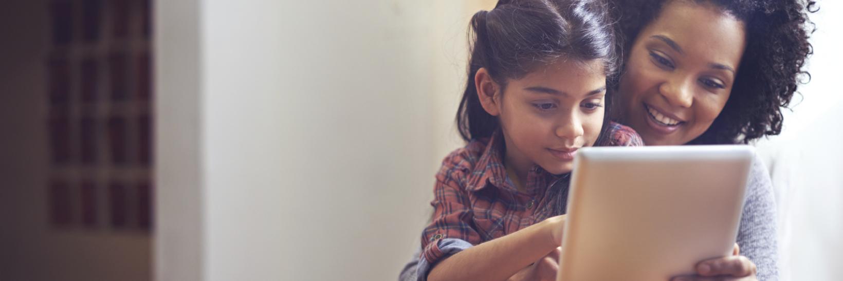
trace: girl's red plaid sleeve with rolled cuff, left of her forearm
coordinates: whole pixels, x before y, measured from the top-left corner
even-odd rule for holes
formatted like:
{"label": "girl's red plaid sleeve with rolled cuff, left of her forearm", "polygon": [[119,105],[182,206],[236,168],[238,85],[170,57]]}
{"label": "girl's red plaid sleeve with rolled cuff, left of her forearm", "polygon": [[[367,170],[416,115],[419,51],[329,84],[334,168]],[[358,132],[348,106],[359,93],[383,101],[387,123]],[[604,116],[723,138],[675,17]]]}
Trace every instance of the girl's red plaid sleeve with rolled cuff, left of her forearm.
{"label": "girl's red plaid sleeve with rolled cuff, left of her forearm", "polygon": [[[459,155],[448,156],[437,173],[433,187],[432,221],[421,233],[421,259],[435,265],[444,257],[453,254],[443,248],[443,240],[457,239],[469,245],[481,242],[481,236],[474,229],[474,215],[468,191],[464,188],[465,172],[459,167]],[[422,276],[423,277],[423,276]]]}

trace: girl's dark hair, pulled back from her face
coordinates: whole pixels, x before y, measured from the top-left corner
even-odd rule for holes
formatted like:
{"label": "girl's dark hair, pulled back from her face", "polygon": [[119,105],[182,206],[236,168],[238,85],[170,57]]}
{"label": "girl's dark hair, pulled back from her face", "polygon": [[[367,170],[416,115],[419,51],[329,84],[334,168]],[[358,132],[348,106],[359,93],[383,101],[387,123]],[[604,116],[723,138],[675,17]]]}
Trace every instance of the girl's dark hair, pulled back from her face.
{"label": "girl's dark hair, pulled back from her face", "polygon": [[[481,67],[502,88],[507,79],[524,77],[560,58],[600,60],[611,77],[619,61],[612,28],[609,6],[599,0],[501,0],[491,11],[475,13],[469,30],[468,77],[457,110],[459,135],[465,141],[491,137],[500,126],[477,97],[474,79]],[[608,113],[611,98],[605,100]],[[606,135],[608,115],[599,143]]]}

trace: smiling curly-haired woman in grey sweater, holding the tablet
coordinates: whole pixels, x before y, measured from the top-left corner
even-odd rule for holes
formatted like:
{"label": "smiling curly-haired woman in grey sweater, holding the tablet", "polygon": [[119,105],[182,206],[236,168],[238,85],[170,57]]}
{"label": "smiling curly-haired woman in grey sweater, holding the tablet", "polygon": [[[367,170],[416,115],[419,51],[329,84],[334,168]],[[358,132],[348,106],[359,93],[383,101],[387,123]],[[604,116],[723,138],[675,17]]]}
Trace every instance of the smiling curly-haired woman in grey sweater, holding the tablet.
{"label": "smiling curly-haired woman in grey sweater, holding the tablet", "polygon": [[[811,53],[813,1],[615,0],[625,57],[615,119],[646,145],[749,143],[781,132]],[[561,193],[565,194],[565,193]],[[675,279],[776,280],[771,183],[756,161],[738,232],[739,255],[701,261]],[[513,276],[552,276],[550,255]],[[413,272],[413,262],[402,272]],[[409,269],[409,270],[408,270]]]}

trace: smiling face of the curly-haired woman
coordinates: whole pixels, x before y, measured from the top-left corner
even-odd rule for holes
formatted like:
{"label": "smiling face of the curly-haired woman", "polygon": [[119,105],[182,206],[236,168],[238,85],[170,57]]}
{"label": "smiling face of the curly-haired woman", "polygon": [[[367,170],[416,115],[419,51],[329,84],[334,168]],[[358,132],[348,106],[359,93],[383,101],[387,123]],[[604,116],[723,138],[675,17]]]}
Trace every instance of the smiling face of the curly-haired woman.
{"label": "smiling face of the curly-haired woman", "polygon": [[725,107],[745,42],[743,22],[717,8],[666,3],[631,45],[622,119],[648,146],[696,139]]}

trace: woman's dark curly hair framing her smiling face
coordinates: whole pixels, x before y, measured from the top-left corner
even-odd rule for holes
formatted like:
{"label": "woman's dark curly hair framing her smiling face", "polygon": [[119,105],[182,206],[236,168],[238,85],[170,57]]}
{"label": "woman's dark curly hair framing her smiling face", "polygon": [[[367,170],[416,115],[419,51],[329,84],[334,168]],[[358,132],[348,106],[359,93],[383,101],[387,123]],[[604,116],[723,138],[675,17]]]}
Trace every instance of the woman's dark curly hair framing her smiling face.
{"label": "woman's dark curly hair framing her smiling face", "polygon": [[[658,18],[663,3],[681,0],[614,0],[622,50],[631,50],[637,35]],[[726,106],[711,127],[692,144],[749,143],[781,133],[781,109],[787,108],[798,84],[810,81],[803,70],[813,54],[808,37],[815,30],[805,0],[685,0],[711,3],[746,26],[747,45]],[[705,24],[705,23],[701,23]],[[624,62],[626,65],[626,61]],[[623,69],[623,68],[621,68]],[[621,93],[622,94],[622,93]]]}

